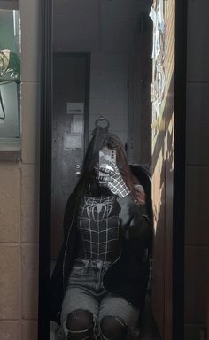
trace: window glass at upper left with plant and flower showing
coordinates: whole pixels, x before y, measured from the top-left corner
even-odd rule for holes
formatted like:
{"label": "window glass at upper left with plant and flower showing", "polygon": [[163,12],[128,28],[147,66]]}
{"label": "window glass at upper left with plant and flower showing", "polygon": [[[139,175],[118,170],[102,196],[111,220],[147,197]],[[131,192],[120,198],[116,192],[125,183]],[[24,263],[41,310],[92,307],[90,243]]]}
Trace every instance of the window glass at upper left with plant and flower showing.
{"label": "window glass at upper left with plant and flower showing", "polygon": [[0,9],[0,140],[20,137],[19,11]]}

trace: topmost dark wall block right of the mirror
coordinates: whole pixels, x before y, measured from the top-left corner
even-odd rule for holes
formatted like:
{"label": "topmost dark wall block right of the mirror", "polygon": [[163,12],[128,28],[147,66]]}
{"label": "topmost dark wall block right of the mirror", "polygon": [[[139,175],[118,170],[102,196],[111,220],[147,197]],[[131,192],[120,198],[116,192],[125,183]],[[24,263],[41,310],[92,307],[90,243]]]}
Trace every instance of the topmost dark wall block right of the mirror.
{"label": "topmost dark wall block right of the mirror", "polygon": [[209,81],[209,2],[188,2],[188,81]]}

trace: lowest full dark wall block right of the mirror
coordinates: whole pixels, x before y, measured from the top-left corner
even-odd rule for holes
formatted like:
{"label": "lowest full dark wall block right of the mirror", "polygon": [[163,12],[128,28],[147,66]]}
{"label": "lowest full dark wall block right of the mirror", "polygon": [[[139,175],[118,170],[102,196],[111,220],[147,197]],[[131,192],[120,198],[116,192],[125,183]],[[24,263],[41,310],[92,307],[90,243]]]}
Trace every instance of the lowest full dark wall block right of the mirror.
{"label": "lowest full dark wall block right of the mirror", "polygon": [[185,323],[206,322],[207,251],[207,247],[185,247]]}

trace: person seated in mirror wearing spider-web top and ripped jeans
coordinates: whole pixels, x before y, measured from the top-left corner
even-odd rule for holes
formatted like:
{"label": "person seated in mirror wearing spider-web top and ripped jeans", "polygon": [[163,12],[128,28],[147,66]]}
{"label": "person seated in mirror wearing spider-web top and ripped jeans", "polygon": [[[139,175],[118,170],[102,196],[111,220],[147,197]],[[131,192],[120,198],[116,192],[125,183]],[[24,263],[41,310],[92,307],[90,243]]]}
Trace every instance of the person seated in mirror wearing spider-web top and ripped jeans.
{"label": "person seated in mirror wearing spider-web top and ripped jeans", "polygon": [[[103,149],[116,151],[108,168],[99,166]],[[61,322],[68,340],[137,338],[151,223],[122,143],[105,128],[97,127],[89,143],[66,204],[64,235],[51,280],[51,320]]]}

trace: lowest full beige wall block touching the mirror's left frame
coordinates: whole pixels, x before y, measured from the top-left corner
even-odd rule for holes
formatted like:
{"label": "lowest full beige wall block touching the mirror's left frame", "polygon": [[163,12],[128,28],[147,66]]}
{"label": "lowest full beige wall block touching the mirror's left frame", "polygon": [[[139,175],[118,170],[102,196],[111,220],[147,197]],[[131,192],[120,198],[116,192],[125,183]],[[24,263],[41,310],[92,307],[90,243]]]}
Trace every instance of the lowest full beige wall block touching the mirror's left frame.
{"label": "lowest full beige wall block touching the mirror's left frame", "polygon": [[38,245],[22,244],[22,319],[37,319]]}

